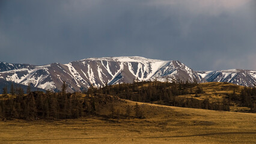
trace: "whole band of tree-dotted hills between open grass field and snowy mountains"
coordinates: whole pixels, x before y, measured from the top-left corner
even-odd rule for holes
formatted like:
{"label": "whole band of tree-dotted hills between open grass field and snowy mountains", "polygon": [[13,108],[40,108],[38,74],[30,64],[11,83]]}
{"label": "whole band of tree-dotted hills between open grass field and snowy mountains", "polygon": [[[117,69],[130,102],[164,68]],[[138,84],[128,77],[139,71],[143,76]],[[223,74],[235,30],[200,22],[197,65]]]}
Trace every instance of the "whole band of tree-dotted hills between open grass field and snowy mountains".
{"label": "whole band of tree-dotted hills between open grass field and snowy mountains", "polygon": [[[256,88],[219,82],[124,83],[98,89],[91,87],[84,94],[47,91],[46,93],[31,92],[24,95],[19,92],[17,95],[0,95],[0,118],[66,119],[91,114],[99,115],[100,107],[106,107],[105,104],[108,103],[115,103],[113,101],[115,98],[166,106],[256,112],[255,95]],[[109,110],[113,109],[112,107],[108,108]],[[137,113],[136,117],[143,116]]]}

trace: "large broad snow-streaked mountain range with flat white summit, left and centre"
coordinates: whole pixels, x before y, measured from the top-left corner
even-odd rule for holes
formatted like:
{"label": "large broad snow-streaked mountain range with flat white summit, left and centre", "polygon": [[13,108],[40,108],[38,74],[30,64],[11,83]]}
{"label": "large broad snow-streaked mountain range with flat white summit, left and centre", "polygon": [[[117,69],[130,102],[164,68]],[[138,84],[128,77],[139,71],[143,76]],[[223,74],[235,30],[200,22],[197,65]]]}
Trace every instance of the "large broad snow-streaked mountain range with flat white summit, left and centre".
{"label": "large broad snow-streaked mountain range with flat white summit, left and centre", "polygon": [[0,63],[0,79],[42,89],[61,89],[65,81],[68,91],[81,91],[93,86],[132,83],[134,80],[188,80],[204,82],[191,68],[179,61],[162,61],[138,56],[88,58],[69,64],[43,66]]}

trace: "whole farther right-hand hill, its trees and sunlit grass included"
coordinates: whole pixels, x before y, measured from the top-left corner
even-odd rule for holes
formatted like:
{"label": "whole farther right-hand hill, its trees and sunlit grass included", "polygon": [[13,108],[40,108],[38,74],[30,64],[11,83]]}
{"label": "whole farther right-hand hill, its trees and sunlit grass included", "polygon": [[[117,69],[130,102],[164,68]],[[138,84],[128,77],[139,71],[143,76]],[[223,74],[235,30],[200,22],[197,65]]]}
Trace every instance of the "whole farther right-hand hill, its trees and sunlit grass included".
{"label": "whole farther right-hand hill, its trees and sunlit grass included", "polygon": [[98,92],[133,101],[168,106],[256,112],[256,88],[233,83],[139,82],[106,86]]}

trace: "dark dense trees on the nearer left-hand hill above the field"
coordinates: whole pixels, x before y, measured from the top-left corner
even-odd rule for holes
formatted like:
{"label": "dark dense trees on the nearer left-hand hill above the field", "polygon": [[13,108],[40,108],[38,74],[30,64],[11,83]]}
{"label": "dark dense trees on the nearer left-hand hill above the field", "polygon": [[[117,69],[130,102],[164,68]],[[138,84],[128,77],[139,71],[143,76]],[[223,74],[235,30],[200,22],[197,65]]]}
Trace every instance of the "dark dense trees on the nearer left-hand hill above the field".
{"label": "dark dense trees on the nearer left-hand hill above the field", "polygon": [[[102,115],[108,118],[144,118],[136,106],[117,108],[117,97],[100,94],[99,89],[89,88],[87,92],[69,93],[64,82],[61,92],[29,91],[23,89],[0,98],[0,118],[6,119],[70,119],[82,116]],[[83,96],[82,96],[83,95]],[[102,113],[102,112],[105,113]],[[106,114],[107,113],[107,114]],[[109,114],[108,114],[109,113]],[[132,115],[132,113],[134,113]]]}

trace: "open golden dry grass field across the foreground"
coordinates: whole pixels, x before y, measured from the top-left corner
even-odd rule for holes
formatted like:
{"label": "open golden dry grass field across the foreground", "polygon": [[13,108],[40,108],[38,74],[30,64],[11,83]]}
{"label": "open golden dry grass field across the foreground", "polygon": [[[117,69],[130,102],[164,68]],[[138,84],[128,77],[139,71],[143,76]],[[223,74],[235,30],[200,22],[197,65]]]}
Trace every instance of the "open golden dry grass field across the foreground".
{"label": "open golden dry grass field across the foreground", "polygon": [[145,119],[0,121],[0,143],[256,143],[253,113],[138,104]]}

